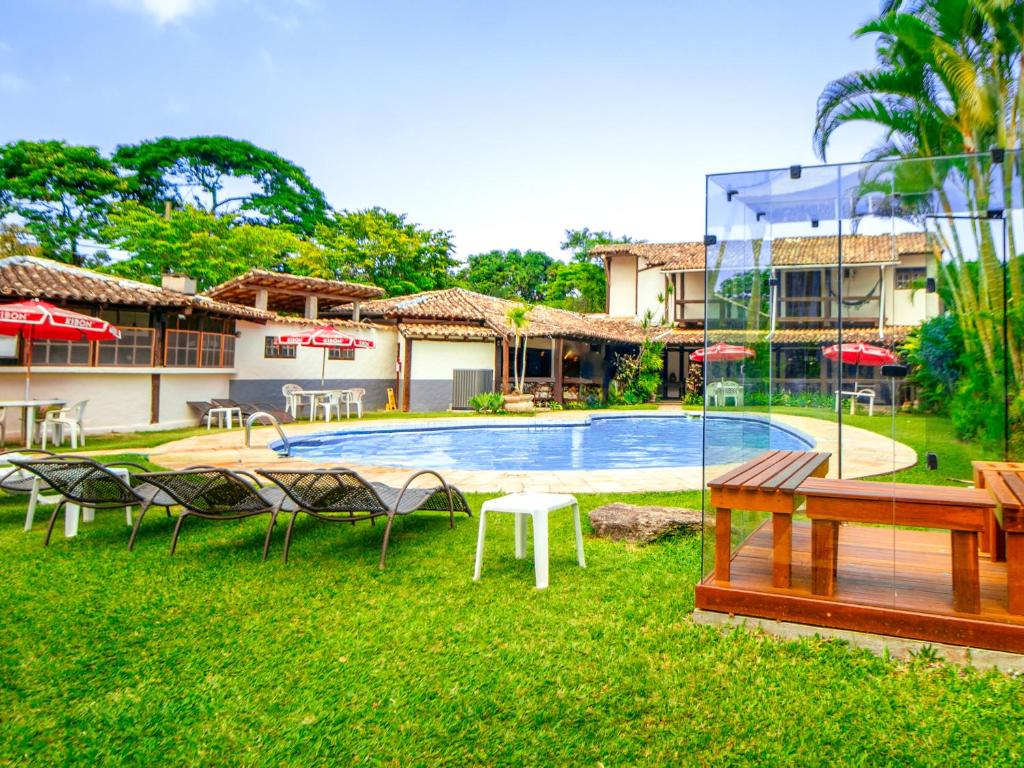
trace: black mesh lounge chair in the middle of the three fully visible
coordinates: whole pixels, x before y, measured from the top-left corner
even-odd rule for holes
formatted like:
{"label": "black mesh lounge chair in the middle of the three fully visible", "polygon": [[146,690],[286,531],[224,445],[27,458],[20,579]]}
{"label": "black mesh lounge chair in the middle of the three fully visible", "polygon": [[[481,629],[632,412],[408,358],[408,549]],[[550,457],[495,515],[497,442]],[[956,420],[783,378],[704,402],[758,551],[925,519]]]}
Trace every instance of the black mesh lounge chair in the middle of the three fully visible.
{"label": "black mesh lounge chair in the middle of the three fully visible", "polygon": [[260,481],[248,472],[231,471],[223,467],[189,467],[177,472],[146,472],[139,475],[139,478],[161,488],[172,497],[176,504],[183,507],[174,526],[174,537],[171,539],[172,555],[178,546],[181,525],[188,517],[200,517],[204,520],[241,520],[245,517],[269,514],[270,525],[263,541],[265,560],[278,513],[282,509],[286,512],[294,509],[281,488],[263,487]]}

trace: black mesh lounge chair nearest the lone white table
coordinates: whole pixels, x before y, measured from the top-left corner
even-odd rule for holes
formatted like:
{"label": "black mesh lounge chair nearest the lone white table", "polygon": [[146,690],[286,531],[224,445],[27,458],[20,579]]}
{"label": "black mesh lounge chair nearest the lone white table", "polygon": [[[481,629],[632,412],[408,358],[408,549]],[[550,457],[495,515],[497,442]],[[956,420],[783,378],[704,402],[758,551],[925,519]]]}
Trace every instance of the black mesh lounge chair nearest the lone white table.
{"label": "black mesh lounge chair nearest the lone white table", "polygon": [[[380,567],[383,570],[387,558],[387,543],[391,536],[391,525],[397,515],[408,515],[418,510],[437,510],[449,513],[449,527],[455,527],[455,513],[465,512],[472,516],[466,498],[459,488],[449,485],[436,472],[424,470],[410,477],[400,488],[382,482],[368,482],[358,473],[341,467],[310,470],[256,470],[275,482],[294,502],[292,519],[288,521],[285,534],[285,561],[292,543],[292,529],[299,512],[305,512],[321,520],[333,522],[358,522],[386,517],[384,543],[381,545]],[[413,480],[424,475],[433,475],[440,482],[429,488],[410,487]]]}

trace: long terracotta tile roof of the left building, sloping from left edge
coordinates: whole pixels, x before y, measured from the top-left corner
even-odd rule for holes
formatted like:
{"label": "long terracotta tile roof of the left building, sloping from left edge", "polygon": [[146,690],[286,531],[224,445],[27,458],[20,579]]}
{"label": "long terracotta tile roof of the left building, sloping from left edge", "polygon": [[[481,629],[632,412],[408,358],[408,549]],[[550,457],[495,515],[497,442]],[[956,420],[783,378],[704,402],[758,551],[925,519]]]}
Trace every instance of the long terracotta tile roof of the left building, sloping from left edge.
{"label": "long terracotta tile roof of the left building, sloping from left edge", "polygon": [[206,296],[190,296],[38,256],[9,256],[0,259],[0,296],[11,299],[47,299],[57,303],[191,307],[254,321],[266,321],[270,317],[267,312],[253,307],[216,301]]}

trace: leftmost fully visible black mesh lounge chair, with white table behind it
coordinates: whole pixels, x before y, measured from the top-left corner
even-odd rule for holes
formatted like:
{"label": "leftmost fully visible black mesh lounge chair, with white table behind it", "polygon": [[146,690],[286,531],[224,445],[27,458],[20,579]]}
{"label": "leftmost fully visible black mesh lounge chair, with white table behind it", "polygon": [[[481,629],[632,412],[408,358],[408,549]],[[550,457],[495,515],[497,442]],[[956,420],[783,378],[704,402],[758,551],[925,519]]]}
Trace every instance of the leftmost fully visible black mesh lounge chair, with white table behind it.
{"label": "leftmost fully visible black mesh lounge chair, with white table behind it", "polygon": [[53,514],[50,515],[50,522],[46,527],[44,547],[49,546],[53,524],[59,517],[60,510],[69,503],[89,509],[125,509],[137,506],[139,514],[128,542],[128,549],[134,545],[138,525],[150,507],[164,507],[170,514],[170,508],[176,504],[173,499],[161,493],[160,488],[147,483],[133,485],[111,471],[112,467],[133,467],[145,472],[145,467],[131,462],[103,465],[94,459],[81,456],[54,456],[41,459],[12,459],[10,463],[37,475],[50,490],[59,494],[60,498],[53,507]]}

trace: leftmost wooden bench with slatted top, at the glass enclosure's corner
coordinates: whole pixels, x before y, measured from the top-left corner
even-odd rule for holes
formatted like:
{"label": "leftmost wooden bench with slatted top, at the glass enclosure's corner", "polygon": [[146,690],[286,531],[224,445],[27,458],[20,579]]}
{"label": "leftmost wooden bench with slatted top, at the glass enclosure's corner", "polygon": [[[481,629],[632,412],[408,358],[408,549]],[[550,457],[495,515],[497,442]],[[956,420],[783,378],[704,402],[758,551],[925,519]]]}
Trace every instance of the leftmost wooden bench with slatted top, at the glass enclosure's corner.
{"label": "leftmost wooden bench with slatted top, at the glass enclosure's corner", "polygon": [[729,581],[732,510],[771,512],[772,586],[788,587],[793,572],[793,513],[801,504],[798,486],[828,472],[831,454],[769,451],[708,483],[715,508],[715,581]]}

